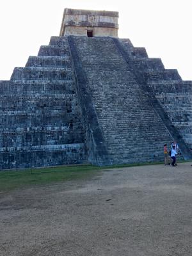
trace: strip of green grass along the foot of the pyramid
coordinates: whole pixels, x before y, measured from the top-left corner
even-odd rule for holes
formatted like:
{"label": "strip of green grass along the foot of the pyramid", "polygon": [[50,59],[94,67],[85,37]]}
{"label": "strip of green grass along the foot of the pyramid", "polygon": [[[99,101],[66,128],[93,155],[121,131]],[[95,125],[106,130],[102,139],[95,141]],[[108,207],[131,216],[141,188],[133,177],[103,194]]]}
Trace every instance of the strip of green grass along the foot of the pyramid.
{"label": "strip of green grass along the foot of the pyramid", "polygon": [[[180,163],[186,161],[179,161]],[[118,164],[113,166],[93,166],[91,164],[76,166],[58,166],[49,168],[33,168],[0,172],[0,192],[31,185],[50,184],[51,182],[65,182],[66,180],[87,179],[98,175],[99,170],[144,166],[149,164],[163,164],[162,162]]]}

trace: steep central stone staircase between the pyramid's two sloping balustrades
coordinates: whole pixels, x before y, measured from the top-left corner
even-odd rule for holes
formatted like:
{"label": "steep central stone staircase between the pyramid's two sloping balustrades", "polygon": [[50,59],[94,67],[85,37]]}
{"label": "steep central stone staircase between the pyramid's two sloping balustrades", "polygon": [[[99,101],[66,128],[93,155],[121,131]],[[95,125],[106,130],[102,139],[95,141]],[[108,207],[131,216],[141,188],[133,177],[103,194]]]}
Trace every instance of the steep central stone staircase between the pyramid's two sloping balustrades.
{"label": "steep central stone staircase between the pyramid's two sloping balustrades", "polygon": [[[163,159],[170,132],[112,38],[74,37],[112,164]],[[134,56],[145,55],[143,49]]]}

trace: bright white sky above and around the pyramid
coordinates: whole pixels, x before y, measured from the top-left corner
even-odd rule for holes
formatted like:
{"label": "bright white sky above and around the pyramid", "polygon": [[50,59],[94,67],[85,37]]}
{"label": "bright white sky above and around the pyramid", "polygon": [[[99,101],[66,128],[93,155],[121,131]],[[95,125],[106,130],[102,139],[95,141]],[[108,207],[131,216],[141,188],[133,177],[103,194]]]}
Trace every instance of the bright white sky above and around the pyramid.
{"label": "bright white sky above and around the pyramid", "polygon": [[24,67],[40,45],[59,35],[64,8],[119,12],[120,38],[192,80],[191,6],[191,0],[2,0],[0,80],[9,80],[14,67]]}

